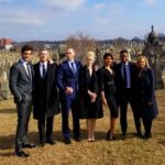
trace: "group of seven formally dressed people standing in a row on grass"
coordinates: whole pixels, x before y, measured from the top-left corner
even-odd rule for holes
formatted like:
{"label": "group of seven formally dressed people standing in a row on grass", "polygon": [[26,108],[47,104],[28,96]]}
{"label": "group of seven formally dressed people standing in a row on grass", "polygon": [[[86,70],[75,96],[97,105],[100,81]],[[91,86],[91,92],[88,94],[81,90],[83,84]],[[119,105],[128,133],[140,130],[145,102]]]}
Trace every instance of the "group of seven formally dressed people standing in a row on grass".
{"label": "group of seven formally dressed people standing in a row on grass", "polygon": [[[120,112],[123,139],[127,138],[127,111],[131,105],[136,135],[151,138],[153,119],[158,114],[155,99],[155,82],[145,56],[138,63],[129,61],[127,51],[120,52],[121,63],[113,62],[109,53],[103,55],[103,66],[95,65],[95,53],[88,52],[86,65],[75,61],[74,48],[66,52],[66,61],[58,66],[50,62],[45,48],[38,51],[40,62],[32,65],[33,47],[24,45],[21,58],[10,68],[9,86],[18,110],[15,154],[28,157],[24,147],[35,147],[28,140],[31,111],[37,120],[40,145],[53,145],[54,116],[62,111],[62,130],[65,144],[72,143],[68,116],[73,114],[73,135],[80,142],[80,119],[86,119],[87,141],[95,141],[96,120],[103,118],[103,107],[110,110],[107,140],[116,140],[114,127]],[[32,108],[33,107],[33,108]],[[141,119],[145,133],[141,131]]]}

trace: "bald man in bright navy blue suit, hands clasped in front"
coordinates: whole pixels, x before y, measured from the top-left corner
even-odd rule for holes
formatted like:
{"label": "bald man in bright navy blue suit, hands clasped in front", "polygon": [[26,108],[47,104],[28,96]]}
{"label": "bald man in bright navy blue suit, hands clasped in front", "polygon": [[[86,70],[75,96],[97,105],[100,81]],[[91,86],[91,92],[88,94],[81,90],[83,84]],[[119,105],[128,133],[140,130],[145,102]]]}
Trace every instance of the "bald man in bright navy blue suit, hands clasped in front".
{"label": "bald man in bright navy blue suit, hands clasped in front", "polygon": [[70,144],[70,130],[68,125],[68,114],[72,109],[74,123],[74,139],[78,142],[79,136],[79,114],[78,114],[78,77],[80,63],[74,61],[75,52],[68,48],[66,53],[67,61],[63,62],[57,69],[57,87],[62,103],[63,134],[66,144]]}

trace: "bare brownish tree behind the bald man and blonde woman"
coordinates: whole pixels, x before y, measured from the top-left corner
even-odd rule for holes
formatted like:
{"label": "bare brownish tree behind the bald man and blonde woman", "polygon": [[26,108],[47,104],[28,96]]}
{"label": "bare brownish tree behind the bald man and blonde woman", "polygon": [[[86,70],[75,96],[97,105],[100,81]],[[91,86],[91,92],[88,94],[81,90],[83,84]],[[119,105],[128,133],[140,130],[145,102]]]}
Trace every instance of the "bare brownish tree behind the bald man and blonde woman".
{"label": "bare brownish tree behind the bald man and blonde woman", "polygon": [[84,57],[89,51],[96,52],[96,41],[89,35],[78,32],[70,35],[66,40],[68,47],[73,47],[77,54],[77,58],[84,63]]}

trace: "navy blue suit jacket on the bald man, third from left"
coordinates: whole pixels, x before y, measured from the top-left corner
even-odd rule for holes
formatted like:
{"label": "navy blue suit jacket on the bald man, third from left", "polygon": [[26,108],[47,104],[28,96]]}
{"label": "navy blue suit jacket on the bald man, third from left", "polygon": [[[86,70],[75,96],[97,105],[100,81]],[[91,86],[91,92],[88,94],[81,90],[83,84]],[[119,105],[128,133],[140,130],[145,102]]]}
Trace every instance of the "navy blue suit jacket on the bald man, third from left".
{"label": "navy blue suit jacket on the bald man, third from left", "polygon": [[[62,98],[76,98],[76,95],[79,90],[79,70],[81,68],[81,64],[79,62],[75,62],[76,64],[76,75],[73,73],[73,70],[69,67],[69,64],[67,61],[63,62],[57,69],[57,87],[61,91]],[[66,87],[72,87],[74,89],[74,92],[72,95],[66,95],[65,89]]]}

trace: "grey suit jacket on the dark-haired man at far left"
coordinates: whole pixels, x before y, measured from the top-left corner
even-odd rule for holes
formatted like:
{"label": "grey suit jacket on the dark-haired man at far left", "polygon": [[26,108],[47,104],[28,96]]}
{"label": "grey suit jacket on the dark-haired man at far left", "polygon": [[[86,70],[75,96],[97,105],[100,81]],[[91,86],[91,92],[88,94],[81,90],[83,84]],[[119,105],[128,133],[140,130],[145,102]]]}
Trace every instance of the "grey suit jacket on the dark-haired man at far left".
{"label": "grey suit jacket on the dark-haired man at far left", "polygon": [[19,61],[10,68],[9,76],[9,87],[14,96],[14,102],[26,102],[32,101],[32,90],[33,90],[33,67],[31,66],[32,79],[26,74],[23,63]]}

